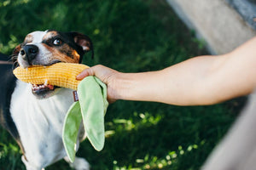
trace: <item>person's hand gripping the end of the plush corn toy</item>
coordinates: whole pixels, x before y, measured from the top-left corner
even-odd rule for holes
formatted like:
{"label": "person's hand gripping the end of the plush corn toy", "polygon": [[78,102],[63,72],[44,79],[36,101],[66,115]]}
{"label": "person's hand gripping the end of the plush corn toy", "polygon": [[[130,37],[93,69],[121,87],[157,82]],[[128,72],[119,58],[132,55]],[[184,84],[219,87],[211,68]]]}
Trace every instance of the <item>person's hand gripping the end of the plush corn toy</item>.
{"label": "person's hand gripping the end of the plush corn toy", "polygon": [[113,103],[118,99],[117,94],[117,82],[116,79],[118,77],[119,71],[115,71],[110,69],[104,65],[95,65],[88,69],[84,69],[78,76],[78,80],[82,80],[84,77],[88,76],[96,76],[102,82],[107,85],[108,91],[108,102]]}

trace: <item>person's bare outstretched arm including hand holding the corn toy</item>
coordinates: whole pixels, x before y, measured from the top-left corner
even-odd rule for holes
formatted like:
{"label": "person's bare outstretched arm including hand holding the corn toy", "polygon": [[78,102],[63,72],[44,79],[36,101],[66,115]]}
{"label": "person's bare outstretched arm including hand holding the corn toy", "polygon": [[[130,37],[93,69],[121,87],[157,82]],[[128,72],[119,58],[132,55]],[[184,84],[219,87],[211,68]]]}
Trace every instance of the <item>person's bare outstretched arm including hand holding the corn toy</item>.
{"label": "person's bare outstretched arm including hand holding the corn toy", "polygon": [[200,56],[161,71],[121,73],[102,65],[78,78],[99,77],[108,100],[156,101],[172,105],[211,105],[246,95],[256,87],[256,38],[229,54]]}

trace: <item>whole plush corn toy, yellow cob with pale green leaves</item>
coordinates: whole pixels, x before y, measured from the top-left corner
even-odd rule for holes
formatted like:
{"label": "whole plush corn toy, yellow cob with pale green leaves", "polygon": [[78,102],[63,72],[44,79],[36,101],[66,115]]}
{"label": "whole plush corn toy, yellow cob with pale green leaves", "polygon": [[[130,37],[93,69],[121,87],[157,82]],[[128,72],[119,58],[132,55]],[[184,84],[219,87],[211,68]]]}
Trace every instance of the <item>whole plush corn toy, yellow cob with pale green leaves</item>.
{"label": "whole plush corn toy, yellow cob with pale green leaves", "polygon": [[90,144],[96,150],[102,150],[105,142],[104,115],[108,108],[107,87],[96,77],[85,77],[76,80],[86,65],[73,63],[56,63],[49,66],[31,66],[26,69],[17,67],[15,77],[23,82],[72,88],[77,90],[79,101],[71,105],[65,117],[62,139],[70,161],[74,161],[76,143],[80,123],[83,121],[84,130]]}

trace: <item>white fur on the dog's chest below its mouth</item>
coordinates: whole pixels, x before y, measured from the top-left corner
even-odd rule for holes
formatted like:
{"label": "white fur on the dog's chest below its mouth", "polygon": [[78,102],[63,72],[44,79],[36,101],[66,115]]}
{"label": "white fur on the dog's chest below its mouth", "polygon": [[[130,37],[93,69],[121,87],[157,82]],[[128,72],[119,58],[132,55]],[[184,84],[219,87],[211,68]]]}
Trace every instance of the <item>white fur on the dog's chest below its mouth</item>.
{"label": "white fur on the dog's chest below its mouth", "polygon": [[[66,155],[61,134],[64,118],[72,104],[71,89],[61,88],[48,99],[36,99],[31,92],[31,85],[17,81],[10,112],[26,158],[36,167],[47,166],[51,163],[47,161],[57,161]],[[49,160],[45,160],[45,156]]]}

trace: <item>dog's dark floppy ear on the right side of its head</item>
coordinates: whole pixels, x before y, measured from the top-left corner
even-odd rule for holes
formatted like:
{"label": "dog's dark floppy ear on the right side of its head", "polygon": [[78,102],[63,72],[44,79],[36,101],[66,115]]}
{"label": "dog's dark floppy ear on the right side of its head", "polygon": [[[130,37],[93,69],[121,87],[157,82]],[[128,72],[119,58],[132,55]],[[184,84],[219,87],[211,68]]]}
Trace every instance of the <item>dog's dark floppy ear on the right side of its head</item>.
{"label": "dog's dark floppy ear on the right side of its head", "polygon": [[[79,45],[81,48],[83,48],[83,53],[87,53],[91,51],[91,58],[94,56],[94,51],[93,51],[93,45],[90,40],[90,37],[85,36],[84,34],[81,34],[79,32],[72,32],[73,35],[73,41]],[[80,57],[82,59],[82,56]]]}

